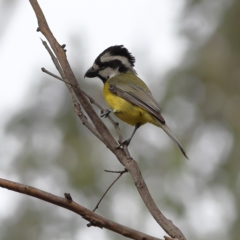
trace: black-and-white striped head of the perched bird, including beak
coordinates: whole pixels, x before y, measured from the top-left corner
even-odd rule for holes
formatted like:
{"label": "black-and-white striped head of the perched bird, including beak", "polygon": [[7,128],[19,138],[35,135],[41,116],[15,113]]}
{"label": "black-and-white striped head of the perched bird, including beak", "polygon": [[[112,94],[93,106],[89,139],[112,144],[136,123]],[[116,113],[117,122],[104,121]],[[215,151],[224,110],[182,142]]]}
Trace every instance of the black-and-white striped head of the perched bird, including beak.
{"label": "black-and-white striped head of the perched bird, including beak", "polygon": [[134,73],[135,58],[123,45],[104,50],[88,69],[84,77],[99,77],[104,83],[120,73]]}

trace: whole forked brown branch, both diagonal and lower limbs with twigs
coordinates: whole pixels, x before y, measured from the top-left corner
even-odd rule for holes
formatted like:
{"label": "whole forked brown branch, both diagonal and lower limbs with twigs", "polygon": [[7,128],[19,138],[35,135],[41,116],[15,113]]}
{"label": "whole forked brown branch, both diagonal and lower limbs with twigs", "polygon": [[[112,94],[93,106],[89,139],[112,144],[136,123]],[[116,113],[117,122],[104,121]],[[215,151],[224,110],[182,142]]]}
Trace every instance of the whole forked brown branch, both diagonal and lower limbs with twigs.
{"label": "whole forked brown branch, both diagonal and lower limbs with twigs", "polygon": [[[170,240],[170,239],[186,240],[185,236],[180,231],[180,229],[176,227],[171,220],[167,219],[158,209],[157,205],[155,204],[154,200],[152,199],[148,191],[148,188],[142,177],[138,164],[130,156],[127,146],[124,145],[122,148],[117,148],[117,146],[119,145],[118,142],[111,135],[111,133],[109,132],[105,124],[102,122],[98,114],[95,112],[91,104],[96,105],[100,110],[104,110],[104,109],[101,106],[99,106],[92,97],[88,96],[85,92],[82,91],[67,61],[65,45],[60,45],[57,42],[54,35],[52,34],[47,24],[47,21],[45,19],[45,16],[38,4],[38,1],[29,0],[29,2],[38,20],[37,31],[41,32],[47,39],[48,43],[50,44],[52,50],[50,49],[50,47],[48,47],[47,43],[43,41],[43,44],[47,49],[47,51],[49,52],[52,58],[52,61],[55,64],[61,77],[58,77],[54,74],[50,74],[50,75],[66,83],[66,86],[68,87],[70,94],[72,96],[73,109],[75,113],[79,116],[81,121],[83,122],[84,126],[86,126],[100,141],[102,141],[107,146],[107,148],[110,149],[110,151],[113,152],[113,154],[115,154],[116,158],[125,168],[124,171],[117,172],[119,173],[118,178],[110,185],[107,191],[122,176],[122,174],[128,171],[131,174],[134,184],[143,202],[145,203],[147,209],[149,210],[153,218],[157,221],[157,223],[165,230],[165,232],[169,236],[171,236],[171,238],[165,236],[165,240]],[[42,69],[42,70],[45,73],[49,74],[47,70],[45,69]],[[88,116],[88,118],[91,119],[91,123],[85,117],[83,110]],[[115,129],[119,136],[119,141],[122,142],[123,137],[120,132],[118,124],[115,123],[110,116],[107,116],[107,117],[114,124]],[[122,226],[120,224],[114,223],[108,219],[104,219],[103,217],[97,215],[93,211],[90,211],[82,207],[81,205],[75,203],[72,200],[72,197],[70,194],[65,194],[65,198],[60,198],[52,194],[38,190],[36,188],[22,185],[19,183],[14,183],[11,181],[7,181],[5,179],[0,179],[0,187],[7,188],[23,194],[27,194],[29,196],[33,196],[33,197],[42,199],[44,201],[50,202],[52,204],[67,208],[77,214],[80,214],[84,219],[89,221],[90,223],[88,224],[88,226],[97,226],[100,228],[107,228],[111,231],[117,232],[131,239],[157,240],[157,238],[135,231],[126,226]],[[104,195],[107,193],[107,191],[104,193]],[[100,202],[101,202],[101,199],[99,203]],[[96,207],[98,207],[99,203],[97,204]]]}

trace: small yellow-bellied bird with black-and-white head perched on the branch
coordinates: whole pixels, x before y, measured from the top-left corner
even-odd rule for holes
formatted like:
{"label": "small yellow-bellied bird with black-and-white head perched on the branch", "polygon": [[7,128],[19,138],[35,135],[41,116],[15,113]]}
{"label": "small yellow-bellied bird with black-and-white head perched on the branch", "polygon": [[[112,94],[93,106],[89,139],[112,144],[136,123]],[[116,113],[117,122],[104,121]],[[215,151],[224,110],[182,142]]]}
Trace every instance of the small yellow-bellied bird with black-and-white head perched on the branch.
{"label": "small yellow-bellied bird with black-and-white head perched on the branch", "polygon": [[103,95],[109,109],[106,109],[101,117],[107,117],[113,112],[122,121],[135,127],[130,138],[122,143],[127,146],[137,129],[145,123],[160,127],[188,159],[182,145],[161,115],[161,109],[150,89],[137,76],[134,64],[135,57],[128,49],[123,45],[115,45],[99,54],[85,73],[84,77],[98,77],[104,84]]}

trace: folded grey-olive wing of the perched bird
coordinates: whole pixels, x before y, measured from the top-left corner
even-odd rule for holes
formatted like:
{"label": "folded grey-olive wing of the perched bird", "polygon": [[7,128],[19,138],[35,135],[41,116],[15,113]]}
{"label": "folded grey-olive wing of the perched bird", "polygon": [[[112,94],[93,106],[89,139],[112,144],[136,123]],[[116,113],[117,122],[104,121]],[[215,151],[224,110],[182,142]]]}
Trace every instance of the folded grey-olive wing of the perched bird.
{"label": "folded grey-olive wing of the perched bird", "polygon": [[141,86],[118,82],[117,85],[110,84],[109,90],[126,101],[145,109],[162,124],[165,123],[165,120],[161,115],[161,109],[148,88],[146,90]]}

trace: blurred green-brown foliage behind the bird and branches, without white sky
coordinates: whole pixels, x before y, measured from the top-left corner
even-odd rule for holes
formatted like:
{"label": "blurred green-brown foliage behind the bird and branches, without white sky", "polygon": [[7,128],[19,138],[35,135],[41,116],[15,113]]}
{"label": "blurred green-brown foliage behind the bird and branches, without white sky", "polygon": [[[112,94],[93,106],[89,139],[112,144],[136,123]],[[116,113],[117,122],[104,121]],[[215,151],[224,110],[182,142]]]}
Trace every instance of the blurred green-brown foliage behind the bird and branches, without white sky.
{"label": "blurred green-brown foliage behind the bird and branches, without white sky", "polygon": [[[159,208],[188,239],[237,240],[240,235],[239,18],[237,0],[186,1],[180,23],[188,50],[179,67],[166,76],[160,106],[186,146],[190,162],[182,159],[173,143],[160,142],[161,136],[146,134],[144,129],[130,146]],[[74,61],[79,63],[74,68],[80,85],[105,106],[101,90],[83,80],[86,69],[80,69],[81,61]],[[112,180],[103,170],[121,170],[121,166],[74,115],[62,83],[45,77],[27,101],[30,104],[19,109],[6,129],[17,149],[6,172],[19,182],[54,194],[70,192],[74,200],[93,208]],[[125,125],[120,126],[128,136]],[[156,132],[160,135],[161,130]],[[153,230],[133,187],[128,175],[122,177],[98,212],[136,229]],[[0,225],[3,240],[80,239],[85,227],[84,221],[67,210],[29,197],[18,199],[14,209]],[[104,238],[122,239],[112,233]]]}

